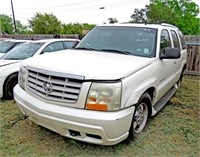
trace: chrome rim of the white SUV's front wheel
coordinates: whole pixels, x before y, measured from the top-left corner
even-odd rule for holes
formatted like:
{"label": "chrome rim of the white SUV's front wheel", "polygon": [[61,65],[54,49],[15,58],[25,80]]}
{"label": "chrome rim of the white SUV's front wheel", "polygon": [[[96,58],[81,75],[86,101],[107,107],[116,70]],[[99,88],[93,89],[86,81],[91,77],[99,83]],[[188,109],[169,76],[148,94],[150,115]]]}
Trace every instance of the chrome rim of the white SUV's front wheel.
{"label": "chrome rim of the white SUV's front wheel", "polygon": [[148,118],[148,108],[146,103],[141,103],[134,114],[133,129],[136,133],[140,133],[146,126]]}

